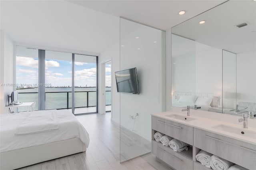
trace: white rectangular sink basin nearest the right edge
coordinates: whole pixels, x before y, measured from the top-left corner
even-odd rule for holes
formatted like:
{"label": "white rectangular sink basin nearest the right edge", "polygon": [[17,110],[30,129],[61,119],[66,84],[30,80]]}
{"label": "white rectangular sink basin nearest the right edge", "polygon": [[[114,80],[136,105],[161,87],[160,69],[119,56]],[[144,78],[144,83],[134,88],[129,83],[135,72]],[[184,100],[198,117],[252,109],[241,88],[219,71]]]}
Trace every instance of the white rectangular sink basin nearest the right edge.
{"label": "white rectangular sink basin nearest the right edge", "polygon": [[248,130],[246,128],[235,128],[235,127],[230,127],[230,126],[222,125],[222,124],[214,126],[212,128],[222,130],[225,132],[229,132],[229,133],[233,133],[233,134],[238,134],[240,136],[245,136],[248,138],[254,138],[254,139],[256,138],[256,132],[252,131],[252,130]]}

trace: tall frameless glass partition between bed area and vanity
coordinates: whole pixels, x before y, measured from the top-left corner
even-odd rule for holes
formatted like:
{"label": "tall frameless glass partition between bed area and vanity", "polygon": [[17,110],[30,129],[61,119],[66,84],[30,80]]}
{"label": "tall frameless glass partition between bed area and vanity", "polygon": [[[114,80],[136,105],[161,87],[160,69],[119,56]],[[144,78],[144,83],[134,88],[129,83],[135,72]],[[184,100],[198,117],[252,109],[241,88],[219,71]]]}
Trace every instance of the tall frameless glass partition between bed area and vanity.
{"label": "tall frameless glass partition between bed area and vanity", "polygon": [[120,93],[120,162],[151,152],[151,114],[165,111],[165,64],[165,32],[120,18],[120,71],[136,67],[139,89]]}

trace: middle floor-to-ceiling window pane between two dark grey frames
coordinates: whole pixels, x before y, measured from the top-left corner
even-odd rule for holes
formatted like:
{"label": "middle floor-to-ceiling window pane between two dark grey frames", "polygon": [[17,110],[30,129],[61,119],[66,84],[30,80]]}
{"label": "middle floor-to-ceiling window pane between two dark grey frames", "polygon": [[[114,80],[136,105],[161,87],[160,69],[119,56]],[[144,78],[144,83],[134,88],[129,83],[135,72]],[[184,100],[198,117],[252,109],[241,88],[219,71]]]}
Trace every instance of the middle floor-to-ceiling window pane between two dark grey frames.
{"label": "middle floor-to-ceiling window pane between two dark grey frames", "polygon": [[45,51],[45,110],[68,109],[72,95],[71,71],[71,53]]}

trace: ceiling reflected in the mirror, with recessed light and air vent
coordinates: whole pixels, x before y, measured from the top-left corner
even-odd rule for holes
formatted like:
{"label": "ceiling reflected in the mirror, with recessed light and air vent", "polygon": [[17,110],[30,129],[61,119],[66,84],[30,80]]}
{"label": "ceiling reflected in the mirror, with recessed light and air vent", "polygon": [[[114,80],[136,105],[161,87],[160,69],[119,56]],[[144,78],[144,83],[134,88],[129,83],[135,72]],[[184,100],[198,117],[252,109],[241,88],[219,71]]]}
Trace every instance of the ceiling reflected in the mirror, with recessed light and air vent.
{"label": "ceiling reflected in the mirror, with recessed light and air vent", "polygon": [[[206,22],[199,24],[202,20]],[[236,27],[242,23],[248,25]],[[256,2],[230,0],[175,26],[172,33],[233,53],[255,51]]]}

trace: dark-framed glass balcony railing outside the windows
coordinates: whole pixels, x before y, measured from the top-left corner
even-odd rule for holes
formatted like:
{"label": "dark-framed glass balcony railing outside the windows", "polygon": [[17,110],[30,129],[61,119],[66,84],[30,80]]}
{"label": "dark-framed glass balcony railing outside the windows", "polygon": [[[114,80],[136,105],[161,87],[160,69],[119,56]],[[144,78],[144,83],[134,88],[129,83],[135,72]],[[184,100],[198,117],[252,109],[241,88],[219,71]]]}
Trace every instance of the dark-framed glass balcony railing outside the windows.
{"label": "dark-framed glass balcony railing outside the windows", "polygon": [[[108,95],[107,95],[108,94]],[[111,91],[106,91],[106,106],[111,105]],[[36,101],[35,110],[38,109],[38,92],[19,92],[19,101]],[[75,108],[95,107],[96,91],[75,91]],[[58,91],[45,92],[45,110],[49,109],[71,109],[72,92]]]}

